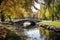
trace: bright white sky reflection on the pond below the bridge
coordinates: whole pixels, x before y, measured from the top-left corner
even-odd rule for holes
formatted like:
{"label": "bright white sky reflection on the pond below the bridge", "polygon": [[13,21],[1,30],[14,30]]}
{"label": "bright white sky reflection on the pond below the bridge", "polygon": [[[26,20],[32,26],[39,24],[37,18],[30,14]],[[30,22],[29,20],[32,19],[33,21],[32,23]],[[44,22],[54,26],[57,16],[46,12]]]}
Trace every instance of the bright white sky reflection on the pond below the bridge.
{"label": "bright white sky reflection on the pond below the bridge", "polygon": [[46,36],[44,35],[42,38],[40,37],[40,32],[38,30],[38,28],[34,28],[34,29],[24,29],[24,33],[26,36],[28,36],[29,38],[27,38],[27,40],[45,40]]}

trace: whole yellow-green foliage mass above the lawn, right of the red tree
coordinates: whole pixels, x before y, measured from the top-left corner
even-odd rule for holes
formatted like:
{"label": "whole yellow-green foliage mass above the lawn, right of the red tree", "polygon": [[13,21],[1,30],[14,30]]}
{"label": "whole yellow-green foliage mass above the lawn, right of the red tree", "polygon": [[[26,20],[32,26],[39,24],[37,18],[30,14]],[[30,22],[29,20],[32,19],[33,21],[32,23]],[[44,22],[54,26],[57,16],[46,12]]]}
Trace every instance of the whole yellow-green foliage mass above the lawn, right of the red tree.
{"label": "whole yellow-green foliage mass above the lawn, right of the red tree", "polygon": [[[49,18],[52,20],[59,19],[60,18],[60,1],[58,0],[44,0],[45,5],[41,8],[41,14],[43,15],[43,18]],[[43,5],[43,4],[42,4]],[[48,9],[48,11],[47,11]],[[43,13],[44,12],[44,13]],[[49,15],[47,15],[49,13]],[[47,17],[46,17],[47,16]]]}

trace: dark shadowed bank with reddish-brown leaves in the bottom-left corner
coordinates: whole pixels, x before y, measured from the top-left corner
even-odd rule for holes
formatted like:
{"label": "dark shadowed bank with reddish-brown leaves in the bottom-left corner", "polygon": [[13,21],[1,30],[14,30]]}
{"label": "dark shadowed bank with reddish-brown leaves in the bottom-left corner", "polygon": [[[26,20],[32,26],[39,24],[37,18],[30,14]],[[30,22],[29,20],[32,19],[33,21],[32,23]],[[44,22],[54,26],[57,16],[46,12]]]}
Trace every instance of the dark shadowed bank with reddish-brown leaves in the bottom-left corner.
{"label": "dark shadowed bank with reddish-brown leaves in the bottom-left corner", "polygon": [[3,28],[0,29],[0,40],[22,40],[14,31]]}

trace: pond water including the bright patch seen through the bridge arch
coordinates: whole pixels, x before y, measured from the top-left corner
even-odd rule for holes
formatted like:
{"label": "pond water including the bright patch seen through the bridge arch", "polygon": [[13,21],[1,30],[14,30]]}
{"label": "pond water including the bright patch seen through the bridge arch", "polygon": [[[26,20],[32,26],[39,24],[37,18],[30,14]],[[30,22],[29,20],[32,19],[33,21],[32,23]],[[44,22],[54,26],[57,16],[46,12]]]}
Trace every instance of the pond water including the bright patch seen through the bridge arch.
{"label": "pond water including the bright patch seen through the bridge arch", "polygon": [[[60,40],[60,35],[56,34],[53,30],[44,29],[39,27],[38,25],[31,26],[34,22],[25,22],[21,27],[20,23],[17,24],[19,35],[23,35],[23,39],[25,40]],[[28,26],[26,27],[26,25]],[[25,26],[25,27],[24,27]],[[20,28],[21,27],[21,28]]]}

